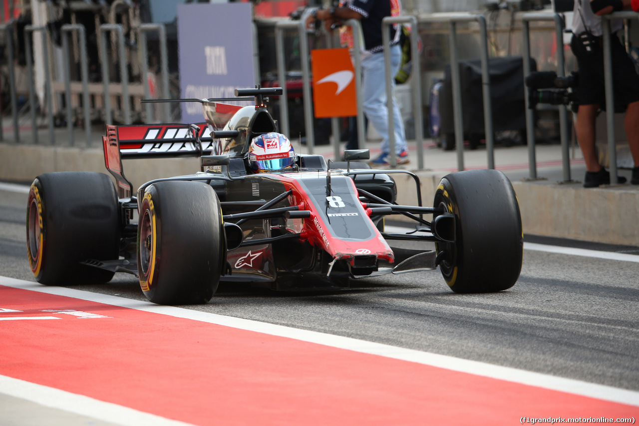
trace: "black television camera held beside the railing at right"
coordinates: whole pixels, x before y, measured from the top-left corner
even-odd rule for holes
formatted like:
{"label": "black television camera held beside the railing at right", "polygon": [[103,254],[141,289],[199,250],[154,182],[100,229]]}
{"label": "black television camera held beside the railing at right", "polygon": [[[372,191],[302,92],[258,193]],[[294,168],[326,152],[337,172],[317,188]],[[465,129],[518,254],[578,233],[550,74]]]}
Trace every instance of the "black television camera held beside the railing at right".
{"label": "black television camera held beside the railing at right", "polygon": [[554,71],[533,72],[526,77],[528,107],[537,104],[568,105],[577,99],[579,75],[576,72],[558,77]]}

